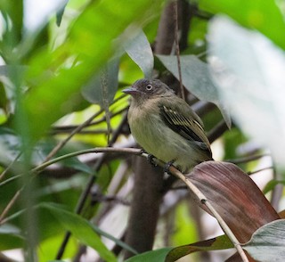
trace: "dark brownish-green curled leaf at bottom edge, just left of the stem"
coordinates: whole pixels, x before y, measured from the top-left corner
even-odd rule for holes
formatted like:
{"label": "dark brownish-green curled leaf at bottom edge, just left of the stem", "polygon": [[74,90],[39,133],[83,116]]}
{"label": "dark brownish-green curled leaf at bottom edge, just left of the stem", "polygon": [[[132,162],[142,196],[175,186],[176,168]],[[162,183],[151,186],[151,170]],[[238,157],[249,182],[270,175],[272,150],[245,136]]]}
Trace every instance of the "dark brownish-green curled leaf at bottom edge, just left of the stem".
{"label": "dark brownish-green curled leaf at bottom edge, just left of the stem", "polygon": [[189,255],[197,251],[209,251],[209,250],[226,250],[232,249],[233,244],[229,238],[224,234],[213,239],[209,239],[202,242],[196,242],[188,245],[183,245],[170,250],[167,254],[166,262],[173,262],[179,258]]}

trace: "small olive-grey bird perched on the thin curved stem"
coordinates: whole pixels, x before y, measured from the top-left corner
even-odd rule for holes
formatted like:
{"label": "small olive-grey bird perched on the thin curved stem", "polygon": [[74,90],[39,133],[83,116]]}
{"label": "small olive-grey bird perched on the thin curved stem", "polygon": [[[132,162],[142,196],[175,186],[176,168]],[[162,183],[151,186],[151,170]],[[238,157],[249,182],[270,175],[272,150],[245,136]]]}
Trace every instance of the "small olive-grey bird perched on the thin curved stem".
{"label": "small olive-grey bird perched on the thin curved stem", "polygon": [[212,160],[201,119],[170,87],[159,79],[140,79],[123,92],[132,95],[127,119],[145,151],[183,173]]}

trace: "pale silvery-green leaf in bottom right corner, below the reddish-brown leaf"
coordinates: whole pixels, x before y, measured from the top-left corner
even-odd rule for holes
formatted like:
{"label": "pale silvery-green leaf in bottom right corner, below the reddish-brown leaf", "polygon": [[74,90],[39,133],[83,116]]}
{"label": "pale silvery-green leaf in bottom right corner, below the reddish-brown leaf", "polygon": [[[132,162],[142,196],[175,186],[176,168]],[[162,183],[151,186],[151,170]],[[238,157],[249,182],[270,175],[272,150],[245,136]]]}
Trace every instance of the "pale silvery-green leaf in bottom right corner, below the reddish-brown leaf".
{"label": "pale silvery-green leaf in bottom right corner, below the reddish-brown leaf", "polygon": [[268,223],[256,230],[242,245],[258,261],[284,261],[285,219]]}

